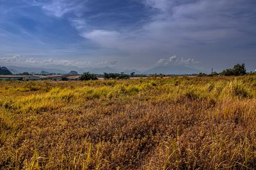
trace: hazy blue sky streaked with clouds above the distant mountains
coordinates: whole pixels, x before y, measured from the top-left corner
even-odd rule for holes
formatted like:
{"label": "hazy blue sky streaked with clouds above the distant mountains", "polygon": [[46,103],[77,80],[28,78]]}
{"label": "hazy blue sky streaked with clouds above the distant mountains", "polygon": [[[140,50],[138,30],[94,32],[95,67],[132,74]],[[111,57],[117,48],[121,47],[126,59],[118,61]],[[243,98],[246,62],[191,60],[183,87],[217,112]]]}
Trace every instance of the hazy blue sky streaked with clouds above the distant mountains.
{"label": "hazy blue sky streaked with clouds above the distant mountains", "polygon": [[0,65],[256,69],[255,0],[0,0]]}

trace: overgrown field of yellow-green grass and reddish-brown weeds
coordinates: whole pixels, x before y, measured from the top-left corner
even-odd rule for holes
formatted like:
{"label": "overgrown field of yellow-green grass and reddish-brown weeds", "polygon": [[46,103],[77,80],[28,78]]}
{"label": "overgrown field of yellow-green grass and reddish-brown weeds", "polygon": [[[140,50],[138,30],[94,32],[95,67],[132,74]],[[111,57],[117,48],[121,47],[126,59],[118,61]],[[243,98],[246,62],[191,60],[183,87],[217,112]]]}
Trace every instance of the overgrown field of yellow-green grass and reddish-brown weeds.
{"label": "overgrown field of yellow-green grass and reddish-brown weeds", "polygon": [[255,169],[256,76],[0,81],[0,169]]}

